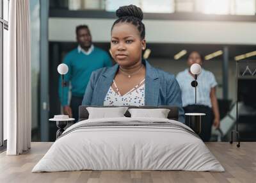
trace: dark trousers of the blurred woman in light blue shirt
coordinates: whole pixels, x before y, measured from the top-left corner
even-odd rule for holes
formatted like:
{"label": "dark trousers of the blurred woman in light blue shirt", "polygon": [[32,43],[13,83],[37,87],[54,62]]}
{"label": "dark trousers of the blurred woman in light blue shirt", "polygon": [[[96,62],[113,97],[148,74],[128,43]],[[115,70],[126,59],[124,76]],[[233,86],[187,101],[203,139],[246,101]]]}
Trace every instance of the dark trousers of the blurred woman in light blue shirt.
{"label": "dark trousers of the blurred woman in light blue shirt", "polygon": [[[199,136],[203,141],[209,141],[211,138],[211,129],[214,118],[211,107],[203,105],[189,105],[183,108],[185,113],[205,113],[205,116],[202,116],[201,132]],[[186,125],[188,125],[188,122],[189,119],[188,116],[186,116]]]}

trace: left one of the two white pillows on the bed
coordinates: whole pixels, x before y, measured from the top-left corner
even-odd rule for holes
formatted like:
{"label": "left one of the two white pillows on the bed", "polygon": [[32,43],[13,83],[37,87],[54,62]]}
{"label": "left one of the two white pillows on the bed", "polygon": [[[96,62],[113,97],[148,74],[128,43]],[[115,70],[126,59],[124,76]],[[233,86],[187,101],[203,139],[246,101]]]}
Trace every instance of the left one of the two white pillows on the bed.
{"label": "left one of the two white pillows on the bed", "polygon": [[120,118],[125,117],[124,114],[128,107],[86,107],[89,113],[89,119],[95,118]]}

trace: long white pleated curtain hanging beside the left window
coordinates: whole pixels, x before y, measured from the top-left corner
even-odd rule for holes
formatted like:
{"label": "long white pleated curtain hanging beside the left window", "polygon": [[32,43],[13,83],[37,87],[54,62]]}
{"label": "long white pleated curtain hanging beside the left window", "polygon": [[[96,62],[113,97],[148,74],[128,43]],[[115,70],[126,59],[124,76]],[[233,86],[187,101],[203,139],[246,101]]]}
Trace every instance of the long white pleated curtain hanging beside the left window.
{"label": "long white pleated curtain hanging beside the left window", "polygon": [[9,13],[9,60],[4,63],[6,154],[18,155],[31,145],[29,0],[10,1]]}

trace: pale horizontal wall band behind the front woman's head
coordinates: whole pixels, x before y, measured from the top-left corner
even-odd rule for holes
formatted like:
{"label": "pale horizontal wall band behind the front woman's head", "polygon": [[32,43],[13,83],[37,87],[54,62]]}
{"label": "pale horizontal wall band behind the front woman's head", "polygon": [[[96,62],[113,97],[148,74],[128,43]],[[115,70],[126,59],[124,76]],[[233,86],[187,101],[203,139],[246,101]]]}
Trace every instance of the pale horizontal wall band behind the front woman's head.
{"label": "pale horizontal wall band behind the front woman's head", "polygon": [[[50,18],[50,41],[75,41],[75,29],[88,24],[95,42],[109,42],[115,19]],[[256,22],[143,20],[146,40],[177,44],[256,44]]]}

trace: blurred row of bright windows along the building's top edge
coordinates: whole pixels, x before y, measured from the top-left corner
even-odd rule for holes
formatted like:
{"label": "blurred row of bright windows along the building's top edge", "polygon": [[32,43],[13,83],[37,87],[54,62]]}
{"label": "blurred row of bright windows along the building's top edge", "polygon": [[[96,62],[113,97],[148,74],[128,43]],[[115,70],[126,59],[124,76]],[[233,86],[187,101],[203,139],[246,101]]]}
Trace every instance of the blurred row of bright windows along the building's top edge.
{"label": "blurred row of bright windows along the building's top edge", "polygon": [[[3,0],[5,2],[10,0]],[[134,4],[145,13],[196,12],[216,15],[255,15],[256,0],[54,0],[51,9],[106,10]]]}

